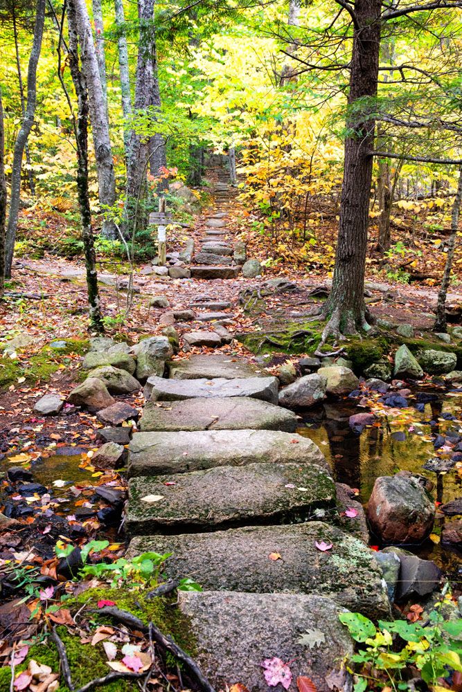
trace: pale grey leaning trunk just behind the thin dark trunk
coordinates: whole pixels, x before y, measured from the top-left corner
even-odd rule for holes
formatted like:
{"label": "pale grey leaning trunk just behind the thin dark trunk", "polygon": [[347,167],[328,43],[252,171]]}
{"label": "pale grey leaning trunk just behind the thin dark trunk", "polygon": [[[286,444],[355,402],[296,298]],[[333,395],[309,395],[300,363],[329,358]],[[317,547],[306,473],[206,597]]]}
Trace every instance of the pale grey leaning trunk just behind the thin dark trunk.
{"label": "pale grey leaning trunk just behind the thin dark trunk", "polygon": [[[82,73],[88,93],[91,131],[95,149],[96,168],[98,171],[99,200],[102,206],[114,206],[116,202],[116,179],[112,161],[112,147],[109,138],[109,122],[105,109],[103,86],[101,84],[96,50],[91,34],[90,19],[85,0],[75,0],[75,23],[80,43]],[[103,221],[102,235],[116,238],[117,230],[114,221]]]}

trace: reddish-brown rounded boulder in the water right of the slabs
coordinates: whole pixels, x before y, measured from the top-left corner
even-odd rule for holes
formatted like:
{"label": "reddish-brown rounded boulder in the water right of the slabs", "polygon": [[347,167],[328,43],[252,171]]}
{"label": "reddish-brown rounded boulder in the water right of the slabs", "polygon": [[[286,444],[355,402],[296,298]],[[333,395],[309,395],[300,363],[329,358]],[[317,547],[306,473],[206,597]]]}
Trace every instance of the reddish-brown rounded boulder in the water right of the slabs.
{"label": "reddish-brown rounded boulder in the water right of the slabs", "polygon": [[367,516],[372,531],[384,543],[420,543],[432,531],[435,506],[414,476],[380,476]]}

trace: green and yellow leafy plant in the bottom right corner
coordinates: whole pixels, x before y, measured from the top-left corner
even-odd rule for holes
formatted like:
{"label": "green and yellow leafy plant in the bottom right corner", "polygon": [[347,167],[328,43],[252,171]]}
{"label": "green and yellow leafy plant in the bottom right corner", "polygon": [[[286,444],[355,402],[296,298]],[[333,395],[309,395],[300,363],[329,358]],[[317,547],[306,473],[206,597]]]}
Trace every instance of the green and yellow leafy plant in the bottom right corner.
{"label": "green and yellow leafy plant in the bottom right corner", "polygon": [[462,619],[444,621],[443,602],[436,605],[425,624],[379,621],[376,627],[360,613],[339,614],[353,639],[366,644],[366,648],[358,648],[350,657],[357,664],[355,692],[384,687],[407,690],[409,674],[406,673],[411,668],[417,668],[427,684],[436,684],[438,678],[447,677],[450,671],[462,673]]}

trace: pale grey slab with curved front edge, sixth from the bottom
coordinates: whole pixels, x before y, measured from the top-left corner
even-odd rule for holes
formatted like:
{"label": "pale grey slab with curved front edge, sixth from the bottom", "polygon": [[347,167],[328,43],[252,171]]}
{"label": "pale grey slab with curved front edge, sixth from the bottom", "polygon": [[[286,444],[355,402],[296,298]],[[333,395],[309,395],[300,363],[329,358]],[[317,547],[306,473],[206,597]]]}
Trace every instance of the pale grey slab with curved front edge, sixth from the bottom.
{"label": "pale grey slab with curved front edge, sixth from the bottom", "polygon": [[251,397],[269,403],[278,403],[277,377],[247,377],[233,380],[224,377],[195,380],[167,380],[163,377],[148,378],[144,388],[148,401],[179,401],[204,397]]}

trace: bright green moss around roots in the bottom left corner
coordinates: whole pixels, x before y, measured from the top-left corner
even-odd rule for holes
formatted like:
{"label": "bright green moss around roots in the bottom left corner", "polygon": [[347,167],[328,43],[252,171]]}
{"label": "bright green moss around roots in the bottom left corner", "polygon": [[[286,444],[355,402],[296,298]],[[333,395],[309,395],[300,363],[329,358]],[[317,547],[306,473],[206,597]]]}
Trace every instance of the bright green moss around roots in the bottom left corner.
{"label": "bright green moss around roots in the bottom left corner", "polygon": [[[62,643],[66,648],[75,688],[86,684],[95,677],[103,677],[111,672],[111,669],[107,666],[107,657],[101,643],[96,644],[96,646],[82,644],[80,637],[73,636],[65,627],[58,627],[57,633],[60,635]],[[37,661],[37,663],[50,666],[53,673],[57,673],[60,669],[60,659],[55,644],[51,639],[46,639],[31,646],[24,663],[17,666],[16,673],[26,670],[29,661],[32,659]],[[130,692],[131,689],[133,689],[133,683],[130,680],[116,680],[105,685],[107,692]],[[0,677],[0,692],[9,692],[9,690],[10,671],[8,671],[8,676],[2,675]],[[69,688],[64,684],[62,677],[60,678],[60,686],[57,692],[69,692]]]}

